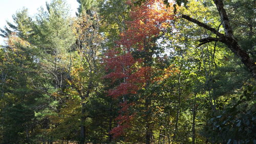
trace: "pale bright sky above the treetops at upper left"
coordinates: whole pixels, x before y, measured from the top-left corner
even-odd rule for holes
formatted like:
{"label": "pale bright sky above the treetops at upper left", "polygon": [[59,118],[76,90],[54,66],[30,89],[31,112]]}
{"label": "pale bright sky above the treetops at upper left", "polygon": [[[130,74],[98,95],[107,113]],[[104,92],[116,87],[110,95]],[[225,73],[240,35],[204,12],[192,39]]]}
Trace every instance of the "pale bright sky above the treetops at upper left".
{"label": "pale bright sky above the treetops at upper left", "polygon": [[[12,15],[16,11],[28,8],[30,16],[34,16],[37,13],[37,9],[43,6],[45,8],[46,2],[50,3],[51,0],[0,0],[0,28],[4,28],[6,20],[12,22]],[[71,15],[75,16],[75,12],[78,8],[76,0],[66,0],[71,8]],[[4,39],[0,37],[0,45],[4,44]]]}

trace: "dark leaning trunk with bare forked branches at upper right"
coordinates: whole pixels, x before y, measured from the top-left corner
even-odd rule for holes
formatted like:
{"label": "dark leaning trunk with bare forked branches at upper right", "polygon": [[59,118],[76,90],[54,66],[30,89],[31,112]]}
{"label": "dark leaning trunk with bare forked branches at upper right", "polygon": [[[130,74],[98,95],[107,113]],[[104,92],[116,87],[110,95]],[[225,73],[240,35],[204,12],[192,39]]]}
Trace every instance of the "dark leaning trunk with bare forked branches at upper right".
{"label": "dark leaning trunk with bare forked branches at upper right", "polygon": [[[141,4],[142,2],[145,2],[145,0],[140,0],[137,1],[135,4]],[[167,6],[169,6],[169,3],[167,1],[165,1],[165,4]],[[181,3],[187,3],[186,0],[181,0],[181,1],[177,1],[177,4],[180,6]],[[185,14],[181,14],[181,17],[196,23],[198,26],[210,31],[213,34],[216,34],[217,37],[206,37],[203,39],[199,39],[198,41],[200,41],[200,45],[201,44],[205,44],[211,41],[217,41],[217,42],[222,42],[224,44],[227,45],[227,47],[236,55],[240,58],[240,60],[242,61],[242,63],[248,68],[248,70],[250,71],[250,73],[252,74],[252,76],[254,78],[256,78],[256,64],[255,62],[253,62],[253,60],[250,58],[249,54],[244,51],[241,47],[241,45],[238,43],[238,40],[234,37],[233,35],[233,30],[232,27],[230,25],[230,21],[229,21],[229,17],[227,15],[227,12],[224,8],[224,4],[222,0],[214,0],[215,6],[218,9],[219,12],[219,16],[221,19],[221,24],[224,28],[225,34],[220,33],[219,31],[217,31],[216,29],[206,25],[203,22],[200,22],[194,18],[189,17],[188,15]],[[176,5],[174,5],[176,7]]]}

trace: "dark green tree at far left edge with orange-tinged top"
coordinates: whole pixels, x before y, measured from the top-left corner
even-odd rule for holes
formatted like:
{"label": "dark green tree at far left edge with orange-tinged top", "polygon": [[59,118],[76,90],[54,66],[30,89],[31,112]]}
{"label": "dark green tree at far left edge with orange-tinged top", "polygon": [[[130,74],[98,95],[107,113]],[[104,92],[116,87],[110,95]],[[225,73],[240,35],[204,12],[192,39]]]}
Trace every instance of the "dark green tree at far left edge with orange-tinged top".
{"label": "dark green tree at far left edge with orange-tinged top", "polygon": [[29,42],[15,34],[9,35],[1,58],[1,128],[3,143],[36,142],[37,99],[42,92],[35,88],[41,82],[35,50]]}

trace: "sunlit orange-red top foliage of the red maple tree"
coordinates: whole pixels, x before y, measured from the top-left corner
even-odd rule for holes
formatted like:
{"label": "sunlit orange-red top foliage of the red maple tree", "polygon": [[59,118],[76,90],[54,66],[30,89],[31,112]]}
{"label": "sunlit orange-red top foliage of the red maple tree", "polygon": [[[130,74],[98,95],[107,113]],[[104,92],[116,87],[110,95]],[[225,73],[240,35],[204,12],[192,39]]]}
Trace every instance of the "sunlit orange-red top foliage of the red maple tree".
{"label": "sunlit orange-red top foliage of the red maple tree", "polygon": [[121,33],[118,44],[124,45],[127,50],[131,47],[142,50],[144,44],[166,29],[170,20],[174,18],[173,9],[166,8],[160,0],[151,0],[131,11],[132,21],[127,21],[128,29]]}

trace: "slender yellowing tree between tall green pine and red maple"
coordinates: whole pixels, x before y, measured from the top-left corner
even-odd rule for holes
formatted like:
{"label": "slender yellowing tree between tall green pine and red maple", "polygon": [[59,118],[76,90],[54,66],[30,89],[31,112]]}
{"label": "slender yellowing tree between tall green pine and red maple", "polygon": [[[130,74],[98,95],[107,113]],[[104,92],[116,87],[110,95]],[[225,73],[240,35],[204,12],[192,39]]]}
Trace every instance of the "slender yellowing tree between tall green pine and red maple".
{"label": "slender yellowing tree between tall green pine and red maple", "polygon": [[74,60],[73,69],[69,74],[70,85],[78,92],[81,99],[81,130],[80,143],[86,141],[86,104],[90,95],[97,92],[100,86],[101,42],[103,37],[99,34],[99,17],[96,1],[78,1],[79,17],[74,22],[77,58]]}

